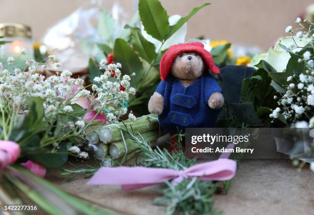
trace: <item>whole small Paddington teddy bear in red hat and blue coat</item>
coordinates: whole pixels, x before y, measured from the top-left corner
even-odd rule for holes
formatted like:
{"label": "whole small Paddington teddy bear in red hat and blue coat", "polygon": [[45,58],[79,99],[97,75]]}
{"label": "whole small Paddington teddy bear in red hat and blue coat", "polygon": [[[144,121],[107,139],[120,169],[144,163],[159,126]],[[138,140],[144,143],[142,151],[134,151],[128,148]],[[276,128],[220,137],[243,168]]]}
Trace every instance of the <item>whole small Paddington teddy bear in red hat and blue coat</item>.
{"label": "whole small Paddington teddy bear in red hat and blue coat", "polygon": [[148,102],[161,127],[175,133],[186,127],[214,127],[224,105],[217,81],[220,73],[199,42],[171,46],[160,63],[161,82]]}

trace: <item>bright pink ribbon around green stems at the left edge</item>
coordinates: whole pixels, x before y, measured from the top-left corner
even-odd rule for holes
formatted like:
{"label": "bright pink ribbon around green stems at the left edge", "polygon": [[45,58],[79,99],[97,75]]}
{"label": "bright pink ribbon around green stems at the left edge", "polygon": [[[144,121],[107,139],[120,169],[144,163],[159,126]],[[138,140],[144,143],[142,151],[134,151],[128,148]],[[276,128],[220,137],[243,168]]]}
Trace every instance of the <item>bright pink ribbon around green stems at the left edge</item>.
{"label": "bright pink ribbon around green stems at the left edge", "polygon": [[[19,154],[21,154],[21,148],[17,143],[12,141],[0,141],[0,170],[3,170],[8,165],[14,164]],[[27,161],[21,165],[39,177],[43,178],[46,174],[46,168],[41,164]]]}

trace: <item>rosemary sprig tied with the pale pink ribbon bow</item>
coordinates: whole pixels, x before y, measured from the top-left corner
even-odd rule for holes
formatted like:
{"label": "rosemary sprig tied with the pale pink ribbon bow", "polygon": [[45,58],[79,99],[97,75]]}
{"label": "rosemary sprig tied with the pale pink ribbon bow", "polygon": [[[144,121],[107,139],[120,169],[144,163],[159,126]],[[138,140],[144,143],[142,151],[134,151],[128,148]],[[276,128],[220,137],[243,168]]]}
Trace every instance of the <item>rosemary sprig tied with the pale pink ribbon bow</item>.
{"label": "rosemary sprig tied with the pale pink ribbon bow", "polygon": [[[167,149],[156,149],[150,147],[140,133],[129,130],[126,126],[121,128],[127,132],[134,142],[139,144],[139,153],[137,159],[141,159],[136,164],[146,167],[169,168],[175,170],[186,169],[196,163],[196,159],[187,159],[183,150],[181,150],[184,134],[176,134],[178,138],[179,150],[170,154]],[[211,198],[217,190],[217,184],[212,181],[201,181],[196,177],[184,179],[177,185],[165,181],[167,188],[161,190],[162,197],[156,198],[154,204],[167,207],[166,214],[217,214],[213,208],[214,200]]]}

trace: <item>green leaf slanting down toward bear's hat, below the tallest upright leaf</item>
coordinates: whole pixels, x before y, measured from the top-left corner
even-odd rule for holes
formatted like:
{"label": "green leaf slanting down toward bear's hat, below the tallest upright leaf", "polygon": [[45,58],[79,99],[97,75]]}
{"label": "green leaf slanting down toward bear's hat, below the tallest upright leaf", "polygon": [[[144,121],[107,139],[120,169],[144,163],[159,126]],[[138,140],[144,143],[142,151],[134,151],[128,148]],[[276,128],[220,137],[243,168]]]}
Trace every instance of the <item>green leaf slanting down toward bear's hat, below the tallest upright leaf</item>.
{"label": "green leaf slanting down toward bear's hat, below the tallest upright leaf", "polygon": [[155,45],[147,41],[139,28],[131,29],[131,41],[134,49],[139,52],[140,57],[151,63],[157,56]]}

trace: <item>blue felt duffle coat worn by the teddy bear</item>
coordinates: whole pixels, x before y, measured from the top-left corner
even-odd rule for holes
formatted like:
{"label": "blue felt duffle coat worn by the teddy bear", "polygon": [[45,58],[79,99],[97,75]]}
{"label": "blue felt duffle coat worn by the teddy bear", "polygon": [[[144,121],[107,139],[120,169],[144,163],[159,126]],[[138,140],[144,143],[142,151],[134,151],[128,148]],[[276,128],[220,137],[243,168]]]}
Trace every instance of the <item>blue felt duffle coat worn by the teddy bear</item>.
{"label": "blue felt duffle coat worn by the teddy bear", "polygon": [[207,101],[211,94],[221,92],[221,88],[210,74],[203,74],[187,87],[169,74],[156,92],[164,96],[164,110],[159,115],[164,130],[176,133],[177,127],[180,130],[214,127],[221,109],[211,109]]}

